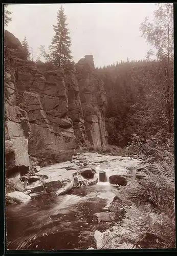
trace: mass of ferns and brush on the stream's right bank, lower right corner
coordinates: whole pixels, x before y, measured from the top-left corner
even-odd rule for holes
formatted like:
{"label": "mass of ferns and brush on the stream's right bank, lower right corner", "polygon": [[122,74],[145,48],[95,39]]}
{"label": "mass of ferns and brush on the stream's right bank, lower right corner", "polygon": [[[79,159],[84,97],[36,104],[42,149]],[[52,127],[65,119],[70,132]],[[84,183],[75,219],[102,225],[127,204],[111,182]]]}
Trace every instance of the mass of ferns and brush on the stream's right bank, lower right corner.
{"label": "mass of ferns and brush on the stream's right bank, lower right corner", "polygon": [[119,243],[139,248],[175,247],[174,170],[168,163],[149,165],[142,179],[129,180],[119,197],[130,205],[127,218],[116,228]]}

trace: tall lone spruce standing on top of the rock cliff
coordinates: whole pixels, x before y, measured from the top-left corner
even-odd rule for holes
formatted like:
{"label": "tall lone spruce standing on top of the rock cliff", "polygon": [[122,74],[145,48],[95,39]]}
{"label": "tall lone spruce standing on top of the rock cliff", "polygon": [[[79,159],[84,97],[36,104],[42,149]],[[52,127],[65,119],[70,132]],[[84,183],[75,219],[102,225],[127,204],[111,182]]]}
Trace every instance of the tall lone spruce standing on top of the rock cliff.
{"label": "tall lone spruce standing on top of the rock cliff", "polygon": [[71,38],[67,28],[67,17],[61,6],[57,13],[57,25],[53,25],[55,35],[51,45],[51,59],[54,65],[64,70],[72,69],[73,61],[71,56]]}

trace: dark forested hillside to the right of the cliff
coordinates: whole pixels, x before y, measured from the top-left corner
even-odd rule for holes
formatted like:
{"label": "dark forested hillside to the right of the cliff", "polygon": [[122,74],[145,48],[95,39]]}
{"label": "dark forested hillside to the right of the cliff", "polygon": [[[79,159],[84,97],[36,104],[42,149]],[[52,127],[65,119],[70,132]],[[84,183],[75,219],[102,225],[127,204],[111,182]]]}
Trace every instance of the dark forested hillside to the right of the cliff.
{"label": "dark forested hillside to the right of the cliff", "polygon": [[[127,60],[97,69],[108,101],[108,143],[122,147],[137,136],[142,141],[172,136],[173,84],[165,87],[162,69],[161,62],[155,60]],[[172,81],[172,60],[169,76]]]}

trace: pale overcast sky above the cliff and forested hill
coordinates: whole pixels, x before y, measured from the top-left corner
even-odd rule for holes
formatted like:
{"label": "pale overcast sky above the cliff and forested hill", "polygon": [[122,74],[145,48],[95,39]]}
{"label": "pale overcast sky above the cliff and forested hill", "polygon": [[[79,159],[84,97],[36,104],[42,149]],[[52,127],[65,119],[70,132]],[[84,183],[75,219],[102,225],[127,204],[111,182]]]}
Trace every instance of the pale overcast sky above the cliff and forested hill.
{"label": "pale overcast sky above the cliff and forested hill", "polygon": [[[61,4],[9,5],[12,22],[6,28],[20,41],[26,35],[35,55],[38,47],[51,44]],[[78,61],[94,55],[96,67],[116,61],[143,59],[150,48],[139,27],[152,18],[157,6],[150,3],[63,4],[72,39],[72,56]]]}

